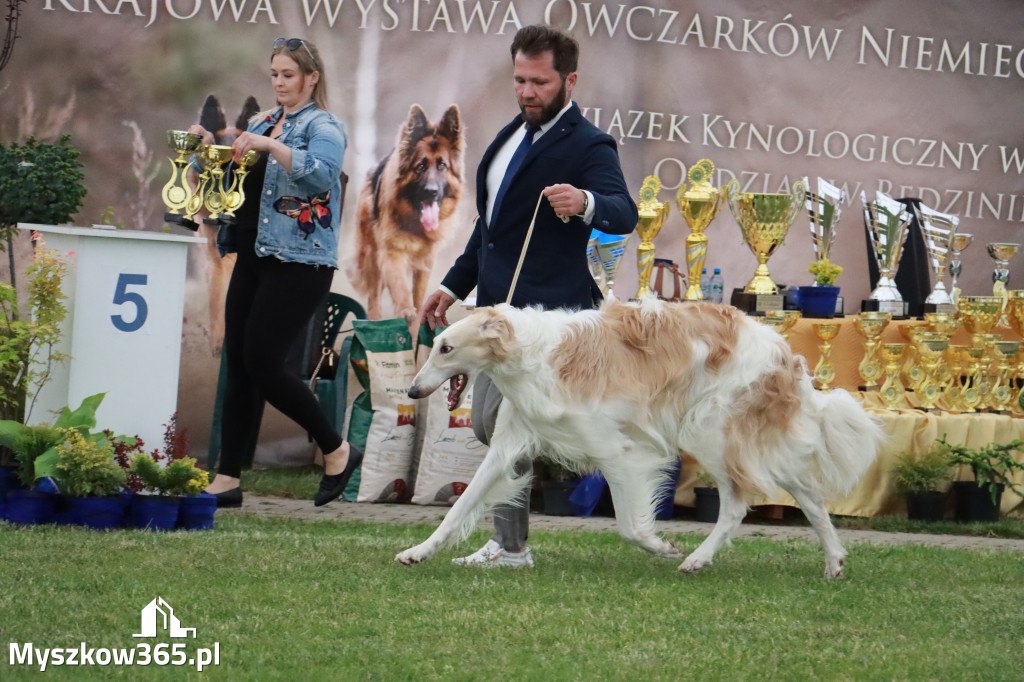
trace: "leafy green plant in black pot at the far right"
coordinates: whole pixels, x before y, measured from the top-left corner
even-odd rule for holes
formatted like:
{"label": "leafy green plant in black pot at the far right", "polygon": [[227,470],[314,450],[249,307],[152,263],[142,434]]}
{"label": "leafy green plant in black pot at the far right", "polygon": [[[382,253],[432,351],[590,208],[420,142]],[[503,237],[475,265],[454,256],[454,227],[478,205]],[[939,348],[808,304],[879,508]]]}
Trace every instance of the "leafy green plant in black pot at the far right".
{"label": "leafy green plant in black pot at the far right", "polygon": [[1012,479],[1014,474],[1024,472],[1024,463],[1014,455],[1024,452],[1024,440],[990,442],[981,447],[950,443],[945,436],[936,442],[945,450],[949,466],[967,466],[974,475],[974,480],[953,482],[957,521],[998,520],[999,502],[1005,491],[1024,498],[1024,493]]}

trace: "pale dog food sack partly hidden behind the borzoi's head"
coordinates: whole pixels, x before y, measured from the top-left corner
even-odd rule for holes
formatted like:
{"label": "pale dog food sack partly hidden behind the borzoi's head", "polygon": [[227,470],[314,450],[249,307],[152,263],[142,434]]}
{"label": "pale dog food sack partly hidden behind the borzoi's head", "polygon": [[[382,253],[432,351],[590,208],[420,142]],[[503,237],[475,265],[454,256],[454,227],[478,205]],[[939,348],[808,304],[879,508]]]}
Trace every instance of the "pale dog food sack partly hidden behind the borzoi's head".
{"label": "pale dog food sack partly hidden behind the borzoi's head", "polygon": [[[434,333],[420,328],[417,365],[422,367],[430,354]],[[420,466],[416,474],[413,504],[453,505],[487,454],[487,447],[473,435],[469,420],[473,387],[466,387],[462,403],[449,412],[449,382],[420,400]]]}

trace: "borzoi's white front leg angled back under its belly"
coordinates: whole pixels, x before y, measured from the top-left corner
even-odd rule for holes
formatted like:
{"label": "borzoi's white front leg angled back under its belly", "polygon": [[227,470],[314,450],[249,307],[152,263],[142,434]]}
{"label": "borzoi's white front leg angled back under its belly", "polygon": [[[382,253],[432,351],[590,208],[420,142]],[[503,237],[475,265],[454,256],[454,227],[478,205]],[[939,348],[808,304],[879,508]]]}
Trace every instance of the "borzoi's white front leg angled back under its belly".
{"label": "borzoi's white front leg angled back under its belly", "polygon": [[665,472],[653,456],[648,458],[645,453],[640,459],[637,452],[627,450],[612,460],[614,466],[604,464],[601,469],[615,505],[618,534],[626,542],[651,554],[678,559],[682,554],[676,546],[654,531],[654,496]]}

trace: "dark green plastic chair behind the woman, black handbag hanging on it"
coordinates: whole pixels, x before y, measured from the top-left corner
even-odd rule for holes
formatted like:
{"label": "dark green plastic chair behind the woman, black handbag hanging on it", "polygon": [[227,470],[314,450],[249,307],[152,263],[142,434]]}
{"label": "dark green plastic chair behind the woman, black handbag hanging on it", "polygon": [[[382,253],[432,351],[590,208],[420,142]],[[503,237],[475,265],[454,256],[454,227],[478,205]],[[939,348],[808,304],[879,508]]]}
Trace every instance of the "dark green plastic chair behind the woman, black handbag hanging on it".
{"label": "dark green plastic chair behind the woman, black handbag hanging on it", "polygon": [[[289,356],[289,364],[299,371],[303,381],[309,382],[313,369],[321,357],[324,348],[334,348],[337,343],[342,324],[351,316],[355,319],[366,319],[367,312],[358,302],[334,292],[328,294],[327,303],[321,313],[313,315],[306,333],[299,339],[295,349]],[[352,345],[352,337],[345,336],[338,351],[338,369],[334,379],[318,379],[315,385],[316,399],[319,400],[324,413],[331,421],[335,430],[341,433],[345,424],[345,413],[348,408],[348,354]],[[210,426],[210,447],[207,451],[207,468],[213,471],[220,460],[220,429],[223,418],[224,384],[227,378],[227,351],[220,353],[220,374],[217,379],[217,397],[214,402],[213,424]],[[242,466],[252,466],[256,454],[256,443],[259,440],[259,427],[262,422],[263,406],[250,430],[249,442],[246,443]],[[344,434],[342,434],[344,435]]]}

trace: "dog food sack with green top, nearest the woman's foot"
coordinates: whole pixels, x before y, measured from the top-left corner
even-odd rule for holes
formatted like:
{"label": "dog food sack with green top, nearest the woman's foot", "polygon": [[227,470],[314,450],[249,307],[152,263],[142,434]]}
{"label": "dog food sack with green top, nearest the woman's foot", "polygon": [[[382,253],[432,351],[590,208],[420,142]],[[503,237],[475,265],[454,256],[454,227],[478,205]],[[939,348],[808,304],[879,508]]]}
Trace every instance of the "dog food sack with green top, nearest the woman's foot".
{"label": "dog food sack with green top, nearest the woman's foot", "polygon": [[413,340],[404,319],[352,322],[352,366],[364,387],[352,406],[349,438],[366,432],[357,502],[408,502],[412,491],[416,400]]}

